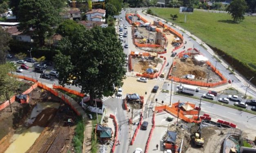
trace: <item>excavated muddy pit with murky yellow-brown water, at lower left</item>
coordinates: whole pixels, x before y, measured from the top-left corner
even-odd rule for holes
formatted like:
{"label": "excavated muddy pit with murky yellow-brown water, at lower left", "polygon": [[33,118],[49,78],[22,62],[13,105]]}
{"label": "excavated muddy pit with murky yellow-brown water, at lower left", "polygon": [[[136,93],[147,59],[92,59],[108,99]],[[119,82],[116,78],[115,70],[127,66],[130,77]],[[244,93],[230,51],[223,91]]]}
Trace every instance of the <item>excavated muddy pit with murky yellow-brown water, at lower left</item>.
{"label": "excavated muddy pit with murky yellow-brown water, at lower left", "polygon": [[[29,102],[0,111],[1,153],[56,153],[73,149],[76,113],[62,99],[39,87]],[[4,130],[7,129],[7,130]],[[18,149],[18,150],[17,150]]]}

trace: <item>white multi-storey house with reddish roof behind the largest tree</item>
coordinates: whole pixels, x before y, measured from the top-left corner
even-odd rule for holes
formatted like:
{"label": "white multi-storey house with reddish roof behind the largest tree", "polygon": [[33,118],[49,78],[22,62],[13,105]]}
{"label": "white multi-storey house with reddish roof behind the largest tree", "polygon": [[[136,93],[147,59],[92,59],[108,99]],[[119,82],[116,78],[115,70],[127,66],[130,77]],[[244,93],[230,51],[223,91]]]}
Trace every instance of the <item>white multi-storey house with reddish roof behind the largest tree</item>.
{"label": "white multi-storey house with reddish roof behind the largest tree", "polygon": [[105,22],[106,10],[104,9],[93,9],[92,11],[89,11],[86,13],[86,17],[88,21],[100,21]]}

